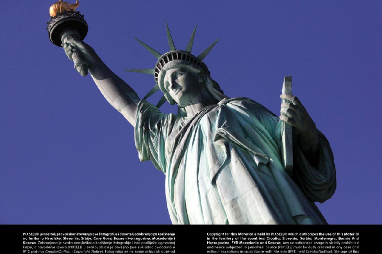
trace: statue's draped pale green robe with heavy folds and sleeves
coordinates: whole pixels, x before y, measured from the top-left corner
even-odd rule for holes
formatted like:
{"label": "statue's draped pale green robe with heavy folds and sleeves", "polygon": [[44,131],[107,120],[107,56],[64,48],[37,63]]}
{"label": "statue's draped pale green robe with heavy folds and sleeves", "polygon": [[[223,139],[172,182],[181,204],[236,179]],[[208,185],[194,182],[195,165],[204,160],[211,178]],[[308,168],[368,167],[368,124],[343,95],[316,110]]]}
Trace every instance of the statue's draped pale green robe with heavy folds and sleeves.
{"label": "statue's draped pale green robe with heavy folds and sleeves", "polygon": [[248,98],[224,99],[193,117],[138,104],[141,161],[165,176],[173,224],[326,224],[314,204],[336,187],[329,142],[318,132],[316,165],[294,142],[294,169],[282,166],[281,121]]}

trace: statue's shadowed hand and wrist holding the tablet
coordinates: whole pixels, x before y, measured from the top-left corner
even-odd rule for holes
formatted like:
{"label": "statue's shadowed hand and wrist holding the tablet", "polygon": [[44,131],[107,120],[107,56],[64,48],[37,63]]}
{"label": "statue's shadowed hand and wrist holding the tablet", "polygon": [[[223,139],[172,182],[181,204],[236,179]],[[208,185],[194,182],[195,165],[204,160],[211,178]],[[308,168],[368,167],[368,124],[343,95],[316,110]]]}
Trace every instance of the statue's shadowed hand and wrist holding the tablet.
{"label": "statue's shadowed hand and wrist holding the tablet", "polygon": [[282,94],[280,98],[291,101],[281,104],[280,119],[290,124],[298,133],[299,145],[303,150],[316,150],[318,146],[316,124],[301,101],[293,95]]}

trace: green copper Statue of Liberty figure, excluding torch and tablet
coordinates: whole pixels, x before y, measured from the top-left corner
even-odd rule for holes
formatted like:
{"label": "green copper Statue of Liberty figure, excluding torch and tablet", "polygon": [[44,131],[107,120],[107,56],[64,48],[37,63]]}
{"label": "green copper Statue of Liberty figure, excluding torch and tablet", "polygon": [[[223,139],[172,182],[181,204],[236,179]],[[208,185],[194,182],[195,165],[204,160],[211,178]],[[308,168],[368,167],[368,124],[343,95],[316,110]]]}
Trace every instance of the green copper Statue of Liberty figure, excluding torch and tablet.
{"label": "green copper Statue of Liberty figure, excluding torch and tablet", "polygon": [[[298,98],[280,95],[290,103],[281,104],[279,117],[249,98],[229,98],[203,62],[217,41],[195,56],[196,27],[185,50],[166,29],[165,54],[137,39],[157,58],[153,69],[130,70],[154,75],[143,99],[86,43],[69,37],[64,49],[71,59],[80,48],[101,93],[134,126],[139,159],[165,174],[172,223],[327,224],[314,202],[335,191],[333,154]],[[145,99],[157,90],[164,95],[154,106]],[[178,114],[160,112],[165,101]],[[294,131],[292,175],[281,161],[282,121]]]}

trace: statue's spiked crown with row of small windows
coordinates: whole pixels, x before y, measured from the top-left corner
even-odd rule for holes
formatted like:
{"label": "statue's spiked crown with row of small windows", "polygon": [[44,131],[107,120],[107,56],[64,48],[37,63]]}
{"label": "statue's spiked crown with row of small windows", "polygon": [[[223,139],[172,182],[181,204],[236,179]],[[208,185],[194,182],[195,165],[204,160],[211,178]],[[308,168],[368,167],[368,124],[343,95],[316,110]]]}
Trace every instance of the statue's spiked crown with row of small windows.
{"label": "statue's spiked crown with row of small windows", "polygon": [[[207,54],[211,51],[211,49],[215,46],[215,44],[218,42],[218,40],[220,39],[219,38],[219,39],[215,40],[215,42],[213,42],[209,47],[207,47],[198,56],[194,56],[193,54],[191,54],[191,50],[192,50],[192,46],[193,46],[193,43],[194,43],[196,26],[194,28],[194,31],[191,34],[191,38],[188,41],[186,49],[185,50],[177,50],[175,48],[174,42],[172,40],[172,37],[171,37],[171,34],[170,34],[170,30],[168,29],[167,22],[165,22],[165,24],[166,24],[168,46],[170,47],[170,51],[168,51],[167,53],[164,53],[162,55],[162,54],[158,53],[158,51],[152,49],[151,47],[149,47],[148,45],[146,45],[145,43],[141,42],[140,40],[138,40],[137,38],[134,37],[136,40],[138,40],[139,43],[141,43],[141,45],[144,48],[146,48],[158,60],[157,60],[157,63],[155,63],[155,67],[152,68],[152,69],[124,70],[124,71],[131,71],[131,72],[138,72],[138,73],[145,73],[145,74],[153,74],[154,75],[155,85],[150,90],[150,92],[148,92],[147,95],[143,97],[143,100],[147,99],[149,96],[151,96],[152,94],[154,94],[155,92],[157,92],[159,90],[159,84],[158,84],[159,74],[162,71],[163,67],[167,63],[170,63],[171,61],[174,61],[174,60],[183,60],[183,61],[186,61],[186,62],[190,62],[190,63],[193,63],[193,64],[195,64],[197,66],[200,66],[200,68],[204,69],[206,72],[209,73],[206,64],[204,64],[202,61],[207,56]],[[160,101],[157,104],[157,108],[162,106],[162,104],[165,101],[166,101],[166,98],[163,95],[162,98],[160,99]]]}

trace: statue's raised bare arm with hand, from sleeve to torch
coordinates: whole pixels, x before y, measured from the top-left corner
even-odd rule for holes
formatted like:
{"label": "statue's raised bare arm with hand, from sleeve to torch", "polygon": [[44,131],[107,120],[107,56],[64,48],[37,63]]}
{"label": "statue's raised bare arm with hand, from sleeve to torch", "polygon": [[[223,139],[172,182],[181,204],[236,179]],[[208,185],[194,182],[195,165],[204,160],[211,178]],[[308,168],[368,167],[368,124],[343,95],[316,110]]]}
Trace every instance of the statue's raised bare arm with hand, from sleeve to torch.
{"label": "statue's raised bare arm with hand, from sleeve to torch", "polygon": [[89,63],[89,72],[106,100],[117,109],[130,124],[135,126],[139,96],[125,81],[112,72],[94,49],[73,37],[66,38],[64,50],[70,60],[73,47],[80,48]]}

